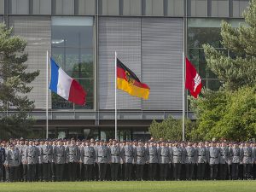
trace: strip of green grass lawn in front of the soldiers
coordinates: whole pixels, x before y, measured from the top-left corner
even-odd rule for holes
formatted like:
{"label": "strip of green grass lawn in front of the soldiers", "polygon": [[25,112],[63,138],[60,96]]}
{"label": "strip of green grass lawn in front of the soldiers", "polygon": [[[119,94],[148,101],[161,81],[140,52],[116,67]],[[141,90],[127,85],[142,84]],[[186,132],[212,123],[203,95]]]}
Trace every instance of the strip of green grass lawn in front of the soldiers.
{"label": "strip of green grass lawn in front of the soldiers", "polygon": [[0,183],[0,191],[255,192],[256,181]]}

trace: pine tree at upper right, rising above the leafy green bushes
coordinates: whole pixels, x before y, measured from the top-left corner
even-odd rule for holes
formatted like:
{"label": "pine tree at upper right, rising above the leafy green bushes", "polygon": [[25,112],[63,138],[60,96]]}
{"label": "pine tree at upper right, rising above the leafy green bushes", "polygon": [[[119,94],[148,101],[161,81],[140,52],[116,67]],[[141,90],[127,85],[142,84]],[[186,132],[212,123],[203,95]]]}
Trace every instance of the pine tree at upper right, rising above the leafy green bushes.
{"label": "pine tree at upper right, rising above the leafy green bushes", "polygon": [[230,55],[218,51],[209,44],[203,46],[207,66],[218,76],[228,90],[256,84],[256,0],[249,3],[243,13],[245,24],[237,28],[223,21],[221,24],[222,44]]}

